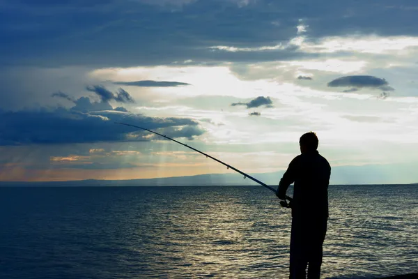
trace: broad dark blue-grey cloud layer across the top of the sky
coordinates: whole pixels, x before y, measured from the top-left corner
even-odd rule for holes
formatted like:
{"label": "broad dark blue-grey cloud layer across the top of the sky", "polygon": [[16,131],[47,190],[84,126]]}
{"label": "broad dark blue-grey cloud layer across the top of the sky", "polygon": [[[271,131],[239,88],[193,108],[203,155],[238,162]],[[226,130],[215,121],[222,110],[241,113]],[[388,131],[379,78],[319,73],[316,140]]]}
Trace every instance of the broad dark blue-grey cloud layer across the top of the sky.
{"label": "broad dark blue-grey cloud layer across the top of the sky", "polygon": [[415,10],[404,8],[413,5],[408,0],[358,1],[356,5],[333,0],[259,0],[242,7],[237,1],[181,1],[187,5],[179,10],[149,5],[152,2],[3,0],[0,52],[8,55],[0,57],[0,65],[144,66],[189,59],[272,61],[316,55],[299,52],[297,46],[254,52],[208,49],[286,43],[297,35],[300,18],[309,25],[307,40],[418,33]]}

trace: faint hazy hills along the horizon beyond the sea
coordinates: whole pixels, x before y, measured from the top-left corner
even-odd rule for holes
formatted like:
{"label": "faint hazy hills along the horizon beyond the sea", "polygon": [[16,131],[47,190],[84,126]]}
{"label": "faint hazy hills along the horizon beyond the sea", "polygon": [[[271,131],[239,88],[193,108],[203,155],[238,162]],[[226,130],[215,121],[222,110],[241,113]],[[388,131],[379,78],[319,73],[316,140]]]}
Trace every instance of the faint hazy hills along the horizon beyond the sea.
{"label": "faint hazy hills along the horizon beyond the sea", "polygon": [[[387,165],[339,166],[332,167],[331,185],[341,184],[410,184],[417,183],[403,179],[405,174],[415,173],[412,165],[405,165],[403,172],[396,172]],[[249,174],[270,186],[277,186],[284,171],[262,174]],[[393,177],[396,177],[394,179]],[[417,178],[418,180],[418,174]],[[415,180],[414,179],[414,180]],[[86,179],[79,181],[1,181],[0,186],[245,186],[258,185],[251,179],[244,179],[241,174],[199,174],[194,176],[173,176],[154,179],[101,180]]]}

